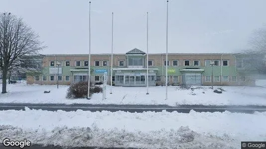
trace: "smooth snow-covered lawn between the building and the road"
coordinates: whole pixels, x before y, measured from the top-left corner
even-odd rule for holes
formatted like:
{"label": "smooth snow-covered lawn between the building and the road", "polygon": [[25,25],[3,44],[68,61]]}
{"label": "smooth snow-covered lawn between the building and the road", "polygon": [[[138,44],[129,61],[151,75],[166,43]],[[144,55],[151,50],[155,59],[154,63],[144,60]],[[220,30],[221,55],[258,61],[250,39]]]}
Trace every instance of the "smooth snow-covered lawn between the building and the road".
{"label": "smooth snow-covered lawn between the building and the road", "polygon": [[[113,86],[113,94],[109,94],[111,86],[107,86],[107,99],[104,100],[102,93],[93,94],[90,100],[67,99],[68,87],[59,85],[57,89],[56,85],[26,85],[25,82],[8,84],[8,93],[0,94],[0,103],[266,105],[266,88],[259,86],[222,86],[226,90],[222,94],[214,93],[210,86],[200,86],[194,90],[168,86],[167,100],[165,86],[149,87],[149,95],[146,95],[145,87],[117,86]],[[214,86],[217,87],[220,86]],[[45,90],[51,92],[43,93]]]}

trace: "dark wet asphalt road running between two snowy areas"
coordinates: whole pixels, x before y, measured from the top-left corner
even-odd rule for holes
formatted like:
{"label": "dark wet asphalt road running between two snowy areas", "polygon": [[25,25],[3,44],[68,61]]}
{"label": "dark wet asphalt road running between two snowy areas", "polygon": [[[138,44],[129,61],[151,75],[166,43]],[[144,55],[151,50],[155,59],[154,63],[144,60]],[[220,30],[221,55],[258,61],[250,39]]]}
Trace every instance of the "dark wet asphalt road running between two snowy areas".
{"label": "dark wet asphalt road running between two snowy areas", "polygon": [[128,112],[143,112],[143,111],[155,111],[161,112],[166,110],[168,112],[177,111],[180,113],[189,113],[190,110],[197,112],[239,112],[239,113],[254,113],[266,112],[266,106],[204,106],[204,105],[92,105],[92,104],[28,104],[28,103],[0,103],[0,110],[24,110],[25,107],[30,109],[42,109],[47,111],[76,111],[78,109],[84,111],[128,111]]}

